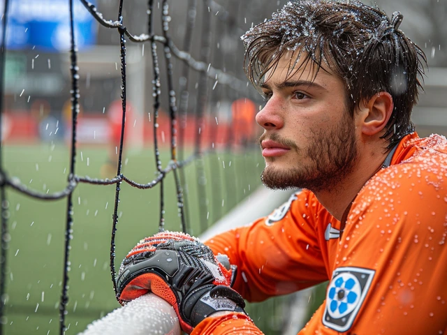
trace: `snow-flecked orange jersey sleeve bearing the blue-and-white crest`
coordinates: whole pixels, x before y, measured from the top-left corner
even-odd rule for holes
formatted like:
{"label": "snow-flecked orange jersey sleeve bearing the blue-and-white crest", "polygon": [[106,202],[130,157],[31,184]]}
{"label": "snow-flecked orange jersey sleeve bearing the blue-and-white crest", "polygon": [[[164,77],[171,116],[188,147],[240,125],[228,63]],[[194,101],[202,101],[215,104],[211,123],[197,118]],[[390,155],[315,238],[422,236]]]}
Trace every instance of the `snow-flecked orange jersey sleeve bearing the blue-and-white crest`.
{"label": "snow-flecked orange jersey sleeve bearing the blue-and-white crest", "polygon": [[447,334],[447,169],[437,166],[392,166],[364,186],[325,304],[300,334]]}

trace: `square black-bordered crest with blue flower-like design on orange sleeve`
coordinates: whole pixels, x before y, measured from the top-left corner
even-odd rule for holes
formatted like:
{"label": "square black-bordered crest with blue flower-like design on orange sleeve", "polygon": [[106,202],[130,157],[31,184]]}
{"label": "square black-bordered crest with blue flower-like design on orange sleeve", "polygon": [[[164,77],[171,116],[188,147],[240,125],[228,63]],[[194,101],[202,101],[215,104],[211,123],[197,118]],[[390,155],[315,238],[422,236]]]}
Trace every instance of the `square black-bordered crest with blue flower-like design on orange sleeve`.
{"label": "square black-bordered crest with blue flower-like design on orange sleeve", "polygon": [[351,328],[374,273],[374,270],[361,267],[335,269],[326,295],[323,325],[338,332],[346,332]]}

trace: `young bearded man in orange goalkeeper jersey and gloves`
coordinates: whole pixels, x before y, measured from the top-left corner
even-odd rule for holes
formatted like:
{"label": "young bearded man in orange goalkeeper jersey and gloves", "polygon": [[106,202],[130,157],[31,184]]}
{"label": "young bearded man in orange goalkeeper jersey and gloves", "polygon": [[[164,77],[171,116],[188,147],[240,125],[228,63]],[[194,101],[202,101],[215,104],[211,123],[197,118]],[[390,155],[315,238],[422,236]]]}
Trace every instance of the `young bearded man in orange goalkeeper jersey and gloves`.
{"label": "young bearded man in orange goalkeeper jersey and gloves", "polygon": [[143,240],[124,260],[119,300],[150,289],[186,332],[261,334],[240,295],[330,281],[299,334],[447,334],[447,141],[414,132],[425,56],[401,21],[357,1],[304,0],[249,30],[247,75],[266,98],[263,183],[304,189],[206,242],[237,274],[189,236]]}

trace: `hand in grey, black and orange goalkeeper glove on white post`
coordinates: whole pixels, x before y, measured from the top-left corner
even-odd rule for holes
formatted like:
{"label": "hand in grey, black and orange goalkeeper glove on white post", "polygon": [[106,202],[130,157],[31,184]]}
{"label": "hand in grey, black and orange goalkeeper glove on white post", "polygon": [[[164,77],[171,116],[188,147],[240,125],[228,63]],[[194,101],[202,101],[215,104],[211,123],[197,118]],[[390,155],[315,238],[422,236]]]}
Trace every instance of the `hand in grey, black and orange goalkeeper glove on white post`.
{"label": "hand in grey, black and orange goalkeeper glove on white post", "polygon": [[198,239],[181,232],[159,232],[142,239],[124,258],[117,299],[126,304],[152,292],[174,307],[180,326],[189,334],[212,313],[245,313],[244,299],[230,288],[231,274]]}

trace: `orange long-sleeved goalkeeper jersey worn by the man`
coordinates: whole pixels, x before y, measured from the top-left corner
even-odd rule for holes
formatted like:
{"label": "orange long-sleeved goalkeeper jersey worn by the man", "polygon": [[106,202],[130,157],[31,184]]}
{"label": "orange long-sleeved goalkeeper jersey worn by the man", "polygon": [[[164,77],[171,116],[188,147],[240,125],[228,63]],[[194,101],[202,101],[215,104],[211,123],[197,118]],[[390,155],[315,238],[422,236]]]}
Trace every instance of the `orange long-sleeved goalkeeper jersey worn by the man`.
{"label": "orange long-sleeved goalkeeper jersey worn by the man", "polygon": [[[414,133],[360,190],[344,229],[304,190],[206,244],[237,265],[234,288],[249,301],[330,281],[300,335],[447,334],[446,240],[447,140]],[[226,315],[192,334],[261,332]]]}

